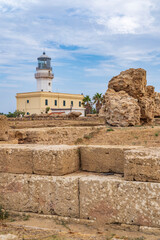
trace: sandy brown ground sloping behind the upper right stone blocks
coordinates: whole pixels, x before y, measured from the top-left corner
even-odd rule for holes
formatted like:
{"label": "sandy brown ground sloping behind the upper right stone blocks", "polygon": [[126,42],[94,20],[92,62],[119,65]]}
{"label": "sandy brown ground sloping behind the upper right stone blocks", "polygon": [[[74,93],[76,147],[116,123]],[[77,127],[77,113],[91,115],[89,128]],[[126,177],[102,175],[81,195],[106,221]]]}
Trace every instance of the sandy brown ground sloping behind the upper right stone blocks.
{"label": "sandy brown ground sloping behind the upper right stone blocks", "polygon": [[160,147],[160,126],[101,129],[77,144]]}

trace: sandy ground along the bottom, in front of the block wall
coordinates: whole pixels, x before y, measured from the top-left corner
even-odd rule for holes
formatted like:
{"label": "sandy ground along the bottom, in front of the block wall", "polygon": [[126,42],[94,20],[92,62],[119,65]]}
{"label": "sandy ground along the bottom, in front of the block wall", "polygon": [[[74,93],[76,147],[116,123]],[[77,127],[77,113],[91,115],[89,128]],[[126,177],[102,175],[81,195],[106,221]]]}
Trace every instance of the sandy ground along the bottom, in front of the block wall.
{"label": "sandy ground along the bottom, in front of the block wall", "polygon": [[19,240],[159,240],[160,236],[115,229],[97,229],[88,225],[65,224],[50,219],[10,218],[0,222],[1,234],[14,234]]}

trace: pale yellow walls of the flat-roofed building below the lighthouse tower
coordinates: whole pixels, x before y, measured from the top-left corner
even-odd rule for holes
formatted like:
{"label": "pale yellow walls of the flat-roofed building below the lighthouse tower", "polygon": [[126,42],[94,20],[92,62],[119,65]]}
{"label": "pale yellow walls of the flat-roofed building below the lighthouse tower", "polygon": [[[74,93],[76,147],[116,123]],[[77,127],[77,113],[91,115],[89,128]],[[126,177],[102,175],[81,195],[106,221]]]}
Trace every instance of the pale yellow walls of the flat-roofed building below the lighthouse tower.
{"label": "pale yellow walls of the flat-roofed building below the lighthouse tower", "polygon": [[[66,93],[50,93],[50,92],[33,92],[33,93],[18,93],[17,98],[17,110],[24,111],[26,114],[41,114],[45,113],[46,107],[54,109],[67,109],[71,108],[71,101],[73,101],[73,109],[83,110],[83,106],[79,107],[79,102],[82,103],[84,98],[80,94],[66,94]],[[27,103],[29,100],[29,103]],[[48,105],[46,105],[46,100]],[[57,100],[57,106],[55,105]],[[65,106],[63,105],[65,101]]]}

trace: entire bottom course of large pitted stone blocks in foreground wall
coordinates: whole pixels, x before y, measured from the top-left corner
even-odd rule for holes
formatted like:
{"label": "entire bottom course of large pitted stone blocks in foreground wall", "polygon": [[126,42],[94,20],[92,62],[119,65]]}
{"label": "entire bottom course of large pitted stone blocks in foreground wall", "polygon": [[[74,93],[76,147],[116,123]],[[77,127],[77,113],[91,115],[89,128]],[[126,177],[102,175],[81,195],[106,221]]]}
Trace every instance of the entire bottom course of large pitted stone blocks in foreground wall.
{"label": "entire bottom course of large pitted stone blocks in foreground wall", "polygon": [[160,227],[160,183],[118,176],[0,174],[7,210],[96,220],[99,224]]}

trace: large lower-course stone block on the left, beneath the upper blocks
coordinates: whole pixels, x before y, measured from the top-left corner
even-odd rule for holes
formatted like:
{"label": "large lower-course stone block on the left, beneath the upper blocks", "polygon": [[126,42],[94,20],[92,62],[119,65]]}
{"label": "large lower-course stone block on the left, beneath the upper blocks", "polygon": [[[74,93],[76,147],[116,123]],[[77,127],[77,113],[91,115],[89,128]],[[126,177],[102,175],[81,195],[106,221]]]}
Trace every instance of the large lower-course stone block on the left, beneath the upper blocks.
{"label": "large lower-course stone block on the left, beneath the upper blocks", "polygon": [[78,178],[0,173],[0,204],[19,212],[79,217]]}

